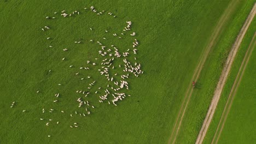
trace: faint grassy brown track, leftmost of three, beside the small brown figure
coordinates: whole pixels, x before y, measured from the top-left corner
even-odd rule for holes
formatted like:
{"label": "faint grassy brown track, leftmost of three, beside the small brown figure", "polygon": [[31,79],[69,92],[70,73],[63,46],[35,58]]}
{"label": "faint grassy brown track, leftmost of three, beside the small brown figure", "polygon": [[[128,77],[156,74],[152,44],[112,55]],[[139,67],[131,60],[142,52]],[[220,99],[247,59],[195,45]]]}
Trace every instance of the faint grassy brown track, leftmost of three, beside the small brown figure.
{"label": "faint grassy brown track, leftmost of three, beside the small brown figure", "polygon": [[[237,0],[232,0],[230,2],[230,4],[228,5],[228,7],[225,9],[223,15],[220,17],[220,20],[218,21],[216,27],[214,28],[214,31],[210,37],[210,42],[208,43],[205,51],[203,51],[201,57],[200,57],[200,61],[199,64],[197,65],[193,77],[189,83],[189,87],[187,89],[187,92],[185,93],[185,98],[182,102],[182,106],[179,110],[176,122],[174,124],[174,127],[172,129],[172,133],[170,136],[170,139],[168,140],[168,143],[175,143],[178,132],[179,132],[179,128],[181,127],[181,123],[184,117],[184,113],[187,110],[187,106],[188,103],[190,101],[192,92],[193,92],[193,86],[191,85],[191,83],[193,81],[197,81],[197,79],[199,78],[199,75],[201,73],[201,70],[203,68],[203,65],[206,62],[206,58],[208,57],[209,52],[211,51],[212,47],[214,46],[214,44],[216,44],[217,39],[219,38],[220,33],[222,32],[222,28],[225,25],[225,22],[228,21],[228,19],[230,18],[230,14],[232,13],[232,11],[234,11],[235,6],[237,4]],[[182,115],[181,115],[182,113]]]}

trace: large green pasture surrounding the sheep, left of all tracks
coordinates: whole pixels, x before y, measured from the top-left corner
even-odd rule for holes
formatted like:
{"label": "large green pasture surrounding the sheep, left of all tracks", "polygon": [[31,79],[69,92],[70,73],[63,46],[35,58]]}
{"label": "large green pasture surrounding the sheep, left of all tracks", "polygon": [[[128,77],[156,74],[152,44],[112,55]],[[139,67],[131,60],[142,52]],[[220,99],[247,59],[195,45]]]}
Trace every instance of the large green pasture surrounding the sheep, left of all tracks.
{"label": "large green pasture surrounding the sheep, left of all tracks", "polygon": [[[229,2],[0,2],[0,143],[167,143],[193,71]],[[237,10],[249,11],[253,1],[241,3]],[[117,17],[97,16],[83,9],[91,5]],[[69,13],[79,10],[80,15],[63,18],[62,10]],[[55,11],[56,20],[45,19]],[[246,12],[241,17],[235,21],[237,30]],[[81,96],[75,91],[88,87],[89,81],[81,81],[82,76],[91,75],[98,86],[107,84],[97,69],[79,70],[87,60],[98,57],[98,45],[89,40],[104,41],[102,38],[106,37],[104,43],[108,45],[113,41],[120,49],[129,46],[131,37],[119,40],[111,35],[120,32],[126,21],[132,21],[132,31],[137,33],[133,37],[140,43],[136,57],[144,70],[143,75],[129,79],[130,89],[125,93],[131,97],[118,106],[100,104],[96,96],[90,97],[96,107],[91,116],[70,117],[70,113],[80,111],[76,100]],[[51,29],[43,32],[40,28],[44,26]],[[94,30],[90,31],[90,27]],[[104,33],[106,29],[111,33]],[[47,37],[53,39],[46,40]],[[234,40],[235,35],[230,39]],[[83,44],[74,44],[76,40],[82,40]],[[69,51],[62,51],[65,48]],[[223,51],[229,48],[224,47]],[[63,57],[66,61],[61,60]],[[78,71],[82,73],[79,77],[75,76]],[[218,76],[214,77],[217,79]],[[208,86],[215,85],[213,82]],[[38,90],[40,93],[36,93]],[[58,103],[53,103],[55,93],[61,93]],[[11,109],[12,101],[16,105]],[[43,108],[55,111],[42,113]],[[205,108],[202,107],[206,113]],[[48,119],[53,122],[46,127]],[[74,122],[79,123],[79,128],[69,127]],[[191,137],[195,135],[196,132]],[[193,139],[196,137],[189,141]]]}

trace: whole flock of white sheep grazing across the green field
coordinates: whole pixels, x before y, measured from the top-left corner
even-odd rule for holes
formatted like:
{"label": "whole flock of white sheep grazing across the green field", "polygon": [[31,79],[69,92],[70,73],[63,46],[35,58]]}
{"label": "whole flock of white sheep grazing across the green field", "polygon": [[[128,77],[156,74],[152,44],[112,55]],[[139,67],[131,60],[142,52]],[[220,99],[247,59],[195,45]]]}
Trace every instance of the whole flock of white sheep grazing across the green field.
{"label": "whole flock of white sheep grazing across the green field", "polygon": [[[98,11],[95,9],[94,6],[91,6],[90,8],[84,8],[85,11],[92,11],[92,13],[96,13],[97,15],[103,15],[104,13],[107,13],[106,11],[102,10],[102,11]],[[73,15],[79,15],[84,13],[84,11],[81,13],[78,10],[73,11],[72,13],[67,13],[66,10],[62,10],[60,13],[61,17],[72,17]],[[115,15],[113,15],[113,13],[109,12],[107,13],[110,16],[113,17],[117,17]],[[46,16],[46,19],[51,20],[51,19],[57,19],[57,15],[58,13],[55,12],[53,17],[50,16]],[[61,19],[60,17],[60,19]],[[65,18],[66,19],[66,18]],[[126,22],[126,26],[123,29],[122,33],[113,33],[113,34],[109,34],[109,35],[113,35],[114,38],[118,38],[118,39],[122,39],[124,38],[123,36],[127,35],[126,37],[134,37],[136,35],[135,32],[131,32],[131,26],[132,26],[132,22],[131,21],[127,21]],[[43,28],[41,28],[42,31],[49,31],[51,28],[49,26],[44,26]],[[93,31],[92,28],[90,28],[90,31]],[[104,31],[104,33],[109,33],[108,30]],[[123,35],[123,36],[122,36]],[[110,37],[113,37],[110,36]],[[110,38],[109,37],[109,38]],[[51,37],[46,38],[47,40],[51,40]],[[107,40],[107,38],[101,38],[103,40]],[[88,41],[88,43],[94,43],[94,41],[97,40],[90,40]],[[83,44],[82,41],[74,41],[75,44]],[[106,79],[106,83],[98,83],[99,85],[101,85],[101,87],[96,87],[96,80],[93,80],[92,77],[86,76],[86,77],[82,77],[79,78],[80,80],[88,80],[91,81],[89,82],[88,86],[84,86],[84,89],[78,89],[76,91],[76,93],[78,93],[79,96],[77,98],[77,102],[78,102],[78,111],[84,111],[84,112],[78,112],[75,111],[74,113],[71,113],[70,116],[73,117],[75,115],[80,115],[82,117],[88,116],[91,114],[90,109],[94,109],[95,106],[91,104],[91,102],[88,100],[89,95],[91,95],[92,97],[97,96],[99,99],[99,103],[104,103],[104,101],[107,102],[107,104],[113,104],[115,106],[117,106],[118,101],[125,99],[127,96],[131,96],[129,94],[125,94],[124,90],[122,89],[129,89],[129,83],[127,81],[127,79],[129,79],[129,77],[131,77],[132,75],[134,75],[135,77],[138,77],[139,75],[143,74],[143,71],[141,70],[141,64],[140,63],[132,63],[131,61],[136,61],[136,54],[137,54],[137,46],[139,45],[139,41],[137,39],[134,39],[133,42],[131,42],[131,46],[127,47],[126,50],[124,50],[124,47],[121,47],[121,49],[118,48],[118,46],[115,45],[104,45],[103,43],[101,43],[100,41],[97,41],[97,43],[94,43],[96,45],[98,45],[98,54],[99,57],[96,57],[94,59],[88,59],[86,62],[86,66],[83,67],[79,67],[77,73],[75,73],[75,75],[80,75],[81,73],[83,73],[83,70],[91,70],[93,69],[92,67],[98,68],[98,74],[99,76],[97,77],[105,77],[103,79]],[[49,45],[49,47],[53,47],[52,45]],[[68,49],[63,49],[63,51],[67,51]],[[131,59],[131,57],[134,56]],[[117,65],[115,63],[116,59],[122,59],[120,63]],[[134,59],[134,60],[133,60]],[[66,61],[66,58],[63,57],[62,61]],[[75,68],[74,65],[69,65],[69,68]],[[112,70],[115,69],[115,73],[112,72]],[[119,69],[119,74],[116,73],[117,70]],[[51,70],[49,70],[50,72]],[[92,74],[94,74],[95,72],[91,72]],[[102,76],[101,76],[102,75]],[[61,86],[61,83],[58,84],[59,86]],[[103,86],[102,86],[103,85]],[[95,90],[96,89],[96,90]],[[127,90],[126,90],[127,91]],[[40,91],[38,90],[37,93],[40,93]],[[55,93],[55,99],[53,100],[54,103],[58,103],[58,99],[60,99],[60,93]],[[95,103],[95,102],[94,102]],[[13,107],[15,105],[15,101],[11,104],[10,107]],[[26,112],[26,110],[23,110],[22,112]],[[45,112],[45,109],[42,110],[42,113]],[[49,109],[50,113],[54,112],[54,109]],[[61,110],[62,113],[65,113],[63,110]],[[44,118],[40,118],[41,121],[44,120]],[[53,123],[53,119],[49,119],[49,121],[47,121],[45,123],[46,126],[49,126],[50,124]],[[60,122],[57,121],[56,124],[59,124]],[[72,125],[69,125],[70,128],[77,128],[78,123],[74,123]],[[48,137],[50,137],[50,135],[48,135]]]}

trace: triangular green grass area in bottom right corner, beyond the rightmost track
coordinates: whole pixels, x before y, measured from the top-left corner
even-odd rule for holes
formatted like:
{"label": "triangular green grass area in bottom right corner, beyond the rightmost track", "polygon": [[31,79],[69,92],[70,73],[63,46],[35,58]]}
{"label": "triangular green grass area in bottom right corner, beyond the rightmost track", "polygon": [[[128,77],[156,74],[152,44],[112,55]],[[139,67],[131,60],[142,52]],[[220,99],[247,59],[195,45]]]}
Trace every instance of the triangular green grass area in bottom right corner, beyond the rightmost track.
{"label": "triangular green grass area in bottom right corner, beyond the rightmost track", "polygon": [[235,95],[234,103],[218,143],[254,143],[255,142],[255,79],[256,71],[252,69],[255,60],[255,50],[247,65],[247,69]]}

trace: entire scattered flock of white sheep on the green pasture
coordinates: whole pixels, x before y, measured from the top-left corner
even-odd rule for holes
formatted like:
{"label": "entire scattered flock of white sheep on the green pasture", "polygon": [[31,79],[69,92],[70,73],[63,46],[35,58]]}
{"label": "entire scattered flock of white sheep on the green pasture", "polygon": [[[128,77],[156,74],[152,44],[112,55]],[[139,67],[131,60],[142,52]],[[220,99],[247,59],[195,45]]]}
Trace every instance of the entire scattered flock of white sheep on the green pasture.
{"label": "entire scattered flock of white sheep on the green pasture", "polygon": [[[84,8],[85,10],[87,8]],[[102,15],[105,11],[102,10],[100,12],[98,12],[94,6],[91,6],[90,7],[90,10],[94,13],[97,13],[97,15]],[[57,12],[55,12],[54,14],[57,14]],[[66,13],[65,10],[62,10],[61,11],[61,16],[62,17],[67,17],[67,16],[72,16],[72,15],[79,15],[79,11],[75,10],[73,11],[71,14],[68,14]],[[108,15],[110,16],[113,16],[113,17],[116,17],[115,15],[113,15],[113,13],[111,12],[108,12]],[[56,17],[50,17],[50,16],[46,16],[46,19],[56,19]],[[126,27],[123,29],[123,31],[130,31],[131,30],[131,25],[132,25],[132,22],[131,21],[126,21],[127,25]],[[46,31],[46,29],[50,29],[49,26],[44,26],[43,28],[41,28],[43,31]],[[92,31],[92,28],[90,28],[90,30]],[[106,30],[105,31],[106,33],[108,33],[108,31]],[[117,33],[114,33],[113,34],[114,37],[118,37],[119,34]],[[125,38],[125,32],[124,33],[121,33],[121,35],[124,35],[121,36],[121,37],[118,37],[119,39],[121,38]],[[130,34],[131,36],[135,36],[136,33],[135,32],[132,32]],[[130,36],[129,36],[130,37]],[[51,38],[48,37],[46,38],[47,40],[50,40]],[[107,40],[107,38],[104,38],[104,40]],[[121,89],[129,89],[129,83],[127,82],[127,79],[129,79],[130,75],[129,73],[132,73],[134,74],[136,77],[138,77],[138,75],[140,74],[143,74],[143,71],[141,70],[141,64],[135,62],[135,64],[131,64],[131,62],[128,61],[129,59],[129,56],[133,54],[137,54],[137,49],[135,49],[135,47],[137,47],[139,45],[139,42],[137,39],[134,39],[135,41],[132,43],[132,52],[130,52],[131,50],[130,49],[127,49],[126,51],[124,52],[119,52],[119,49],[117,48],[117,46],[114,46],[114,45],[111,45],[111,47],[107,48],[108,46],[107,45],[104,45],[102,44],[100,41],[97,41],[96,44],[100,45],[100,49],[98,51],[98,53],[100,54],[101,58],[98,59],[98,58],[95,58],[95,61],[96,62],[92,62],[92,61],[86,61],[86,63],[88,64],[88,66],[86,67],[80,67],[79,69],[84,69],[84,70],[90,70],[90,69],[93,69],[91,67],[101,67],[98,69],[98,71],[100,72],[100,75],[103,75],[104,77],[106,77],[107,79],[107,87],[104,88],[104,87],[97,87],[97,90],[92,92],[93,89],[94,89],[94,85],[97,84],[95,83],[96,81],[93,81],[91,83],[89,83],[89,87],[86,88],[85,91],[83,90],[78,90],[76,91],[77,93],[80,93],[80,94],[83,94],[85,99],[89,98],[88,95],[98,95],[98,97],[100,98],[98,101],[100,103],[103,103],[104,101],[108,101],[108,104],[113,104],[115,106],[117,106],[117,102],[119,100],[123,100],[125,99],[126,95],[124,92],[120,92]],[[94,43],[94,40],[90,40],[90,42],[93,44]],[[75,41],[74,42],[75,44],[83,44],[82,41]],[[53,47],[53,45],[50,45],[49,47]],[[68,49],[63,49],[63,51],[68,51]],[[108,58],[109,57],[109,58]],[[118,65],[114,65],[114,62],[116,59],[120,59],[120,58],[123,58],[121,59],[121,63],[123,64],[118,64]],[[134,59],[136,60],[136,57],[134,57]],[[65,60],[65,57],[62,58],[62,61]],[[123,60],[123,62],[122,62]],[[101,62],[98,62],[98,61],[101,61]],[[118,61],[118,60],[117,60]],[[89,65],[90,64],[90,65]],[[124,67],[123,67],[124,65]],[[74,65],[69,65],[70,68],[75,68]],[[112,73],[110,72],[111,70],[113,69],[123,69],[123,71],[120,71],[120,75],[118,75],[118,73]],[[49,70],[50,72],[51,70]],[[110,73],[109,73],[110,72]],[[125,73],[125,74],[123,74]],[[79,75],[79,73],[75,73],[75,75]],[[92,79],[91,76],[87,76],[88,79]],[[80,78],[80,80],[84,80],[85,78],[82,77]],[[113,83],[112,84],[109,84],[109,83]],[[58,84],[59,86],[61,86],[61,84],[59,83]],[[104,92],[103,92],[104,91]],[[37,91],[37,93],[39,93],[40,91]],[[103,94],[102,94],[103,93]],[[112,95],[112,98],[109,98],[109,95],[111,97]],[[128,96],[131,96],[131,95],[128,95]],[[57,103],[58,99],[60,97],[60,93],[56,93],[55,94],[55,99],[53,100],[54,103]],[[79,114],[80,116],[86,116],[86,115],[90,115],[91,112],[89,111],[90,108],[94,109],[95,106],[89,104],[89,101],[88,100],[83,100],[82,97],[79,97],[77,99],[79,105],[78,105],[78,109],[84,109],[85,110],[85,113],[78,113],[77,111],[75,111],[75,115]],[[15,104],[15,101],[13,101],[13,103],[11,104],[10,107],[13,107]],[[26,110],[23,110],[22,112],[25,112]],[[54,109],[50,109],[49,110],[50,113],[53,113],[54,112]],[[62,113],[65,113],[63,110],[61,110]],[[42,113],[45,113],[45,109],[42,110]],[[70,114],[71,117],[73,117],[73,113]],[[40,118],[41,121],[44,120],[44,118]],[[46,122],[46,126],[49,126],[49,124],[53,121],[53,119],[49,119],[49,122]],[[59,124],[59,121],[56,122],[57,124]],[[78,127],[78,124],[77,123],[74,123],[74,125],[70,125],[71,128],[77,128]],[[48,137],[50,137],[50,135],[48,135]]]}

